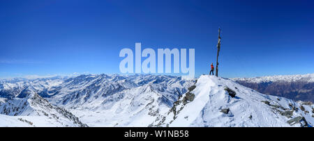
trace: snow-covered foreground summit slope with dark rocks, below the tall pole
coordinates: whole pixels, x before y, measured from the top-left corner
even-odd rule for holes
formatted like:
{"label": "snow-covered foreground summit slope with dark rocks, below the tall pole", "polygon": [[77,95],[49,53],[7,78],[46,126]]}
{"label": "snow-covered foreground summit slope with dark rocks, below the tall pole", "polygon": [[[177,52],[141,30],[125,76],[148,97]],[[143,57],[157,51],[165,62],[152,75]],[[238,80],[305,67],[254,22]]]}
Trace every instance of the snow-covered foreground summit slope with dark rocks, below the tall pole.
{"label": "snow-covered foreground summit slope with dark rocks, below the tall pole", "polygon": [[[184,94],[165,116],[151,126],[310,126],[314,124],[312,106],[308,113],[301,104],[283,97],[260,94],[229,79],[202,75],[195,89]],[[236,92],[230,97],[225,88]],[[193,97],[194,96],[194,97]],[[221,112],[229,109],[228,112]],[[297,118],[295,118],[297,117]],[[305,119],[301,119],[305,117]],[[295,124],[288,124],[287,121]],[[306,122],[305,122],[306,121]]]}

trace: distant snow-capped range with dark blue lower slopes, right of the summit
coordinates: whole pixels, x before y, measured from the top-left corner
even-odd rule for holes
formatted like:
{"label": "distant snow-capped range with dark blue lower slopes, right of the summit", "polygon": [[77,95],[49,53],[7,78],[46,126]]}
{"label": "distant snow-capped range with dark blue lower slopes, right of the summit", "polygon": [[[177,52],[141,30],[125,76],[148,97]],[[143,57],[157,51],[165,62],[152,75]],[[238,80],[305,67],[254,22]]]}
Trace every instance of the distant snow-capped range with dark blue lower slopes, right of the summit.
{"label": "distant snow-capped range with dark blue lower slopes, right of the summit", "polygon": [[263,94],[314,102],[314,74],[232,79]]}

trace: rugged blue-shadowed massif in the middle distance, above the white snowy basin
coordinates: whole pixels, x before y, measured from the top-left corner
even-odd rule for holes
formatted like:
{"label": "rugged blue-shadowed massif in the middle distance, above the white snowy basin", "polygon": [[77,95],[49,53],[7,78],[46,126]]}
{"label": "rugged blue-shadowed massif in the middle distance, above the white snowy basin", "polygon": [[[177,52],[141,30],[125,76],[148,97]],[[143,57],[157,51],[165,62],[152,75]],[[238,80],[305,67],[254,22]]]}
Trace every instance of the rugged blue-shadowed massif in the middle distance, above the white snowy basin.
{"label": "rugged blue-shadowed massif in the middle distance, above the white snowy basin", "polygon": [[[96,100],[105,100],[114,94],[119,94],[124,90],[132,90],[139,87],[156,88],[165,94],[177,92],[172,97],[186,92],[188,82],[178,76],[156,76],[156,75],[82,75],[69,78],[58,88],[55,88],[51,98],[53,103],[68,108],[80,107]],[[175,99],[172,99],[175,100]],[[85,104],[83,104],[85,103]],[[171,104],[170,104],[171,105]]]}

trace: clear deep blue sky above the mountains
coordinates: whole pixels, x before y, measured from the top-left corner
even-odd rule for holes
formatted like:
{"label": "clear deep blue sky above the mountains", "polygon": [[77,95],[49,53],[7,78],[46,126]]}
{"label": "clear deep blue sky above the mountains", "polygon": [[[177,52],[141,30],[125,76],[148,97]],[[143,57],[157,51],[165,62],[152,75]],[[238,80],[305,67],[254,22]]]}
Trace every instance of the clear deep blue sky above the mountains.
{"label": "clear deep blue sky above the mountains", "polygon": [[119,73],[119,51],[194,48],[220,76],[314,72],[313,1],[0,1],[0,77]]}

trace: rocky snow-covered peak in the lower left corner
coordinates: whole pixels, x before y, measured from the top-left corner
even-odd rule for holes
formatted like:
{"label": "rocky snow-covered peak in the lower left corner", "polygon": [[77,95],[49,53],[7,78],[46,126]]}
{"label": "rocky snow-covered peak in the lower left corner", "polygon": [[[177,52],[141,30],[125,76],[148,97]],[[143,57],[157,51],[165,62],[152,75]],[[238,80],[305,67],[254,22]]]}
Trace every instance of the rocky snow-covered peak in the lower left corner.
{"label": "rocky snow-covered peak in the lower left corner", "polygon": [[87,126],[72,113],[53,106],[38,94],[10,99],[1,104],[0,114],[0,126]]}

